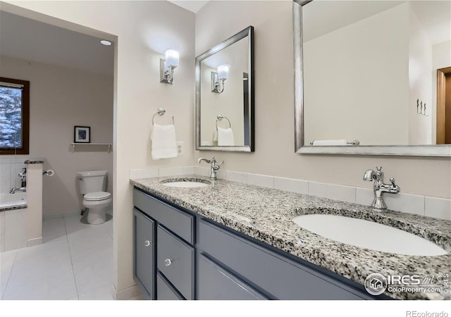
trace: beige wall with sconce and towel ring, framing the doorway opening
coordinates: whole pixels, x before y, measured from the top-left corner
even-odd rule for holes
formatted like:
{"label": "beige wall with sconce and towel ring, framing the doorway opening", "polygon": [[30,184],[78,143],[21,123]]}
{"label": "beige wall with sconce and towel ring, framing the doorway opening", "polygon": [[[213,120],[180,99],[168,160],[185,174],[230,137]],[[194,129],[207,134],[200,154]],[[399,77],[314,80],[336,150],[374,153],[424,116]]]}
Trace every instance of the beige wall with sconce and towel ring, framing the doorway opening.
{"label": "beige wall with sconce and towel ring, framing the doorway opening", "polygon": [[[25,9],[30,9],[24,10]],[[194,13],[168,1],[5,1],[1,9],[116,42],[113,127],[114,286],[132,278],[131,168],[192,165],[193,151],[152,161],[152,115],[174,116],[178,141],[194,148]],[[39,14],[42,13],[42,14]],[[57,20],[58,18],[60,20]],[[75,23],[75,24],[74,24]],[[180,51],[173,85],[159,82],[159,58]],[[163,118],[160,118],[163,120]]]}

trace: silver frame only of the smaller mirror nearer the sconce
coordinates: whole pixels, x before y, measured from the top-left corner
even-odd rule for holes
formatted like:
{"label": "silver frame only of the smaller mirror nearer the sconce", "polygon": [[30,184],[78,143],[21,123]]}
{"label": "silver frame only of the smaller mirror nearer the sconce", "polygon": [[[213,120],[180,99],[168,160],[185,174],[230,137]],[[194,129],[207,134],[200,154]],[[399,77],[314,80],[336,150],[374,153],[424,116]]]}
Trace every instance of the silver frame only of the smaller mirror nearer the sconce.
{"label": "silver frame only of the smaller mirror nearer the sconce", "polygon": [[[214,147],[214,146],[202,146],[200,137],[200,63],[205,58],[218,53],[222,49],[249,37],[249,145],[236,146],[236,147]],[[237,34],[229,37],[220,44],[212,47],[208,51],[200,54],[196,57],[196,108],[194,116],[196,118],[196,150],[200,151],[234,151],[234,152],[253,152],[254,151],[254,27],[250,25]]]}

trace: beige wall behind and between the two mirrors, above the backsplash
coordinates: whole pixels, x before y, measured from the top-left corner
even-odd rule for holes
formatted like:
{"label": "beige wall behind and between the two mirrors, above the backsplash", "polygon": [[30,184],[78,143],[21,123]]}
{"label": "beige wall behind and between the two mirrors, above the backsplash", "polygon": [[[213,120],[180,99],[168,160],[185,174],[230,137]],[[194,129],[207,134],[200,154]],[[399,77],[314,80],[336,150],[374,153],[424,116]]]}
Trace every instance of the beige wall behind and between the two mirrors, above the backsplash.
{"label": "beige wall behind and between the two mirrors, above the backsplash", "polygon": [[[218,16],[228,23],[217,23]],[[210,1],[196,15],[196,54],[248,25],[255,27],[255,152],[196,157],[214,155],[226,170],[368,188],[364,170],[381,165],[402,192],[451,197],[449,158],[296,155],[291,1]]]}

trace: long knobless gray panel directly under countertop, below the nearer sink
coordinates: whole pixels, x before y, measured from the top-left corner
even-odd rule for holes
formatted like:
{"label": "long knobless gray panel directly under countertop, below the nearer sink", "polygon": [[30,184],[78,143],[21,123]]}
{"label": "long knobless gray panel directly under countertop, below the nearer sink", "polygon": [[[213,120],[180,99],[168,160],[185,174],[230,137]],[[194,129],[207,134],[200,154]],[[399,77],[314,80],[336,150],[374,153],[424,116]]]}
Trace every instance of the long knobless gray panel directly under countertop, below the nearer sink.
{"label": "long knobless gray panel directly under countertop, below the nearer sink", "polygon": [[[362,299],[347,285],[199,220],[199,249],[275,299]],[[200,277],[199,277],[200,278]],[[340,285],[340,286],[339,286]]]}

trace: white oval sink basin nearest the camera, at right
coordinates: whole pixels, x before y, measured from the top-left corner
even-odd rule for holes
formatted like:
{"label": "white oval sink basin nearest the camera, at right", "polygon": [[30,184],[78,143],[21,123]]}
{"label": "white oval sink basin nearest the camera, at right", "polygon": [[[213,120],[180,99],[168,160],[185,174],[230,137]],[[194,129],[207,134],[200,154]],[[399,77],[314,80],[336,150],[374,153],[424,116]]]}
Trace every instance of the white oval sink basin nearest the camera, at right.
{"label": "white oval sink basin nearest the camera, at right", "polygon": [[412,256],[447,254],[422,237],[373,221],[317,213],[296,216],[292,220],[317,235],[355,247]]}

